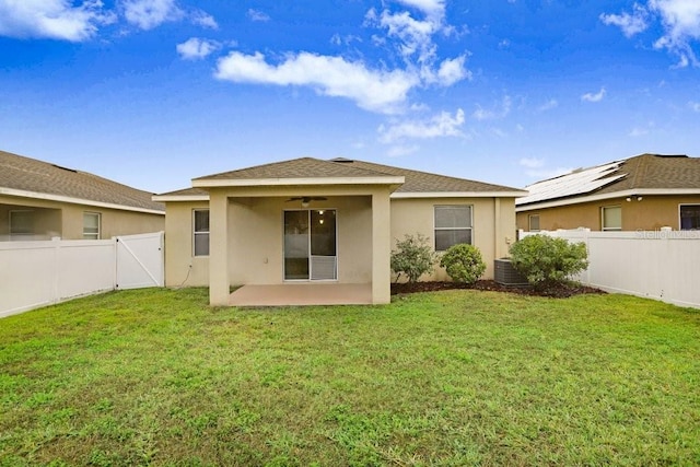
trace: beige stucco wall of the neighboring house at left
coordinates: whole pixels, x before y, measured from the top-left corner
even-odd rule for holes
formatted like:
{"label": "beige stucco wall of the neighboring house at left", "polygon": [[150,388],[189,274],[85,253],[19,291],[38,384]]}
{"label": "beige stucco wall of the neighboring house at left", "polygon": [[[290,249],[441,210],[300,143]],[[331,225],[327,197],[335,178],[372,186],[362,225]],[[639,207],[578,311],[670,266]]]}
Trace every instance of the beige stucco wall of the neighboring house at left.
{"label": "beige stucco wall of the neighboring house at left", "polygon": [[35,211],[35,234],[47,238],[60,236],[63,240],[82,240],[84,212],[101,214],[101,238],[161,232],[165,227],[163,214],[0,196],[0,236],[9,234],[9,211],[11,210]]}

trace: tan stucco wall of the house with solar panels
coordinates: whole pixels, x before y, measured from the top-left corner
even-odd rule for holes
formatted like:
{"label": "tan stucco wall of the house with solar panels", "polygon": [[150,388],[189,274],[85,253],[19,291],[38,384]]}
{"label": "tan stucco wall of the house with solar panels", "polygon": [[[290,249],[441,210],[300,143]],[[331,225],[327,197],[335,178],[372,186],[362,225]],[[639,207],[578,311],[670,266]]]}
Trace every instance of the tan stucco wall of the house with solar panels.
{"label": "tan stucco wall of the house with solar panels", "polygon": [[587,227],[602,230],[600,210],[608,206],[622,208],[622,230],[658,230],[670,226],[680,227],[679,206],[700,205],[700,196],[643,196],[641,201],[625,197],[581,205],[561,206],[517,213],[517,227],[528,231],[528,218],[539,214],[539,229],[553,231],[557,229]]}

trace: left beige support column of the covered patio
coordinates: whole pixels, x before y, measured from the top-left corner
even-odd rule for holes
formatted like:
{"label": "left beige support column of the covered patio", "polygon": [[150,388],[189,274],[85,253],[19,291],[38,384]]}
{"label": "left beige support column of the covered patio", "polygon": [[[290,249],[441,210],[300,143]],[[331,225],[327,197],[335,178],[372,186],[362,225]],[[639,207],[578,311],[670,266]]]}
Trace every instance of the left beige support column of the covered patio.
{"label": "left beige support column of the covered patio", "polygon": [[229,198],[212,189],[209,200],[209,304],[229,305]]}

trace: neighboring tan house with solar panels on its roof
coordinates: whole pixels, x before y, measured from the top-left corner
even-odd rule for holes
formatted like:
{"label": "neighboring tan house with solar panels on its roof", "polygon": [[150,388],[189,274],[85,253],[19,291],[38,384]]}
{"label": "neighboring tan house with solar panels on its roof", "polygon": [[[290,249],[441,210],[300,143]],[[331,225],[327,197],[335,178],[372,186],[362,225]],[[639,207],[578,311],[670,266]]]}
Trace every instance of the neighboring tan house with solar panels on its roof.
{"label": "neighboring tan house with solar panels on its roof", "polygon": [[642,154],[527,186],[517,227],[641,231],[700,229],[700,159]]}

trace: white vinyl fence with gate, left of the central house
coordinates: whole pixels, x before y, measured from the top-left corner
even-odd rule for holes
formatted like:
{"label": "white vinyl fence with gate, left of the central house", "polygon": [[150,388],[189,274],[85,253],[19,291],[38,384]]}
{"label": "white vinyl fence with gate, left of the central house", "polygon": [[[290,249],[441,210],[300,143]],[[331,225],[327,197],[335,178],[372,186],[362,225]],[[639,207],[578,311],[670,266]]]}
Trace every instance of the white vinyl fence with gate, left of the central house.
{"label": "white vinyl fence with gate, left of the central house", "polygon": [[163,283],[163,232],[0,242],[0,317],[91,293]]}

